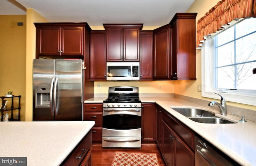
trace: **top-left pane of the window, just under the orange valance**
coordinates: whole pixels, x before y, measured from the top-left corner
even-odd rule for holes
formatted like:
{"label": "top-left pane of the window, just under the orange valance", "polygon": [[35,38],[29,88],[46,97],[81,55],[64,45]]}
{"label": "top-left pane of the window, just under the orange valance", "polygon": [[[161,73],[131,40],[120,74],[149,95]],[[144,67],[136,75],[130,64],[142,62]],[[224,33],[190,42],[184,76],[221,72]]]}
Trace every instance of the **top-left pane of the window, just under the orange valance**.
{"label": "top-left pane of the window, just under the orange valance", "polygon": [[217,46],[234,40],[234,26],[220,32],[216,37],[218,38]]}

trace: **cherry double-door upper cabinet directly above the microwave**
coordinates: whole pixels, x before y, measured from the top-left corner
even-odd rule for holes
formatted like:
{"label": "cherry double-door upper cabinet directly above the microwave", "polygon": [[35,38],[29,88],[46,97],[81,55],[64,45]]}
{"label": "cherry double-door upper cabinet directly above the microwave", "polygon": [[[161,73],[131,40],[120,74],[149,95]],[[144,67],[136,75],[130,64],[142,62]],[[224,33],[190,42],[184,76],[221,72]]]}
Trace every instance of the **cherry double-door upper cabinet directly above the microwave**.
{"label": "cherry double-door upper cabinet directly above the microwave", "polygon": [[107,62],[139,61],[143,24],[103,24],[106,29]]}

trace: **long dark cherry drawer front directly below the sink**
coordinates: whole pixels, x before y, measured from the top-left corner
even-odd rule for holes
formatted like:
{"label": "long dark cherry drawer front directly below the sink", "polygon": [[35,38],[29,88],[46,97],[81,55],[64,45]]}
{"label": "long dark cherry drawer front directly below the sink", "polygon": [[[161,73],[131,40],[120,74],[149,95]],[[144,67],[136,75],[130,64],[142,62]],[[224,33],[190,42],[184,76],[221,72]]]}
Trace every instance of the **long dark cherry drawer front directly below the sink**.
{"label": "long dark cherry drawer front directly below the sink", "polygon": [[188,128],[177,122],[168,113],[167,116],[163,116],[163,120],[170,126],[170,128],[184,141],[188,146],[194,150],[194,133]]}

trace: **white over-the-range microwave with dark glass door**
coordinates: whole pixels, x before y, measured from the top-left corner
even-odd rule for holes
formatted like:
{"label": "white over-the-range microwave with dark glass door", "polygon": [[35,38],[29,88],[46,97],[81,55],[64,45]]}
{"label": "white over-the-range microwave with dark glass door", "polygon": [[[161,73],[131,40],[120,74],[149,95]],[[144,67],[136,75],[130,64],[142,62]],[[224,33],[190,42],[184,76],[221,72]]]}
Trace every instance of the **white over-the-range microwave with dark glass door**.
{"label": "white over-the-range microwave with dark glass door", "polygon": [[140,62],[107,62],[107,80],[140,80]]}

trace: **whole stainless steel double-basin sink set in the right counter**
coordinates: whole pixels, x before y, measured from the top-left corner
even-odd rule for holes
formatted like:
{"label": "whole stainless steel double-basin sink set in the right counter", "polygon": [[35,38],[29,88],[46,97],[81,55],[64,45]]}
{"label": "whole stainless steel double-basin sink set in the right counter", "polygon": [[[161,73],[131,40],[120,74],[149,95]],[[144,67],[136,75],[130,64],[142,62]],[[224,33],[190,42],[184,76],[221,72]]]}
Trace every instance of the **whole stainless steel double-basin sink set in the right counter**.
{"label": "whole stainless steel double-basin sink set in the right counter", "polygon": [[172,108],[172,109],[182,114],[183,116],[186,116],[190,120],[193,120],[199,123],[211,123],[211,124],[237,123],[237,122],[232,122],[230,120],[217,117],[213,112],[202,110],[199,108]]}

